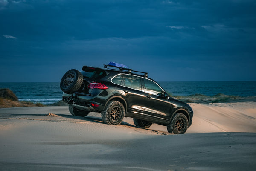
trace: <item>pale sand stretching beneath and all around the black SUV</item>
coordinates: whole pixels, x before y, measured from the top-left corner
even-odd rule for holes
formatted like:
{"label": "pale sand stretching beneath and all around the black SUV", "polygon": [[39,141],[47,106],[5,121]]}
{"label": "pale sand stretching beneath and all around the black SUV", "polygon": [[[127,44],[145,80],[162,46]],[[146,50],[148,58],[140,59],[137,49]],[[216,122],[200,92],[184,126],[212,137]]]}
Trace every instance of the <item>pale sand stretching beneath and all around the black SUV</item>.
{"label": "pale sand stretching beneath and all around the black SUV", "polygon": [[[106,125],[67,106],[0,109],[3,171],[254,171],[256,102],[190,104],[186,134],[166,127]],[[48,114],[52,113],[52,114]]]}

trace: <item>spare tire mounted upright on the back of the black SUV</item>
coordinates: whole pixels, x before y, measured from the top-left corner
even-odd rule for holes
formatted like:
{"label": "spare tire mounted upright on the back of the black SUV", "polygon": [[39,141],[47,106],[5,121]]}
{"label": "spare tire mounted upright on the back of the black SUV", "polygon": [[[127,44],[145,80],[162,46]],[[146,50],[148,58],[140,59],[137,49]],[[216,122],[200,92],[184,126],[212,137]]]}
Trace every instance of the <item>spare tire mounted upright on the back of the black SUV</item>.
{"label": "spare tire mounted upright on the back of the black SUV", "polygon": [[81,72],[75,69],[69,70],[61,78],[61,90],[67,94],[73,94],[79,90],[83,80],[84,78]]}

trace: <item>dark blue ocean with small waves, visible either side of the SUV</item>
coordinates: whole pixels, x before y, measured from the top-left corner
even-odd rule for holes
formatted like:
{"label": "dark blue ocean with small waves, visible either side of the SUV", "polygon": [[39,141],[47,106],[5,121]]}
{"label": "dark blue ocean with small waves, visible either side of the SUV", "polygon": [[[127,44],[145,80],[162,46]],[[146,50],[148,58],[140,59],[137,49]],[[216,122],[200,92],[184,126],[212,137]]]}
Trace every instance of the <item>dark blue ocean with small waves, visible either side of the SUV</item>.
{"label": "dark blue ocean with small waves, visible either side of the SUV", "polygon": [[[171,96],[256,96],[256,81],[195,81],[158,82]],[[0,88],[9,88],[19,101],[31,101],[44,105],[62,100],[59,82],[0,83]]]}

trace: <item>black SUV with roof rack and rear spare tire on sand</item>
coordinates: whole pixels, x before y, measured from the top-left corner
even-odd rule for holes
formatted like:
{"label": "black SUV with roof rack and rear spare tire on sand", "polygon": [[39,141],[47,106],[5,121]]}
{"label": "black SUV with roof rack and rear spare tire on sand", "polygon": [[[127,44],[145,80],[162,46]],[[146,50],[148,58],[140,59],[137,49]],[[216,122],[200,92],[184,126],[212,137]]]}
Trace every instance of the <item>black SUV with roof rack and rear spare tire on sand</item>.
{"label": "black SUV with roof rack and rear spare tire on sand", "polygon": [[118,125],[131,117],[142,128],[156,123],[167,126],[169,133],[185,133],[192,124],[192,108],[170,97],[147,74],[114,62],[69,70],[61,79],[62,98],[74,116],[99,112],[106,124]]}

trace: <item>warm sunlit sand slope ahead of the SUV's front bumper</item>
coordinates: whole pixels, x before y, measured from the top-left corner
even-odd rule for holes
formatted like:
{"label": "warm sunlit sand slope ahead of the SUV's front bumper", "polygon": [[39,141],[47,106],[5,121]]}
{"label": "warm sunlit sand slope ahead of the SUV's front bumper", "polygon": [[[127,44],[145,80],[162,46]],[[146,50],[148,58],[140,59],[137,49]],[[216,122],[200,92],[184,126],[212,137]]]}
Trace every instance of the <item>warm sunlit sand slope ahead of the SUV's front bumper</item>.
{"label": "warm sunlit sand slope ahead of the SUV's front bumper", "polygon": [[256,103],[191,104],[195,113],[189,133],[256,132]]}

